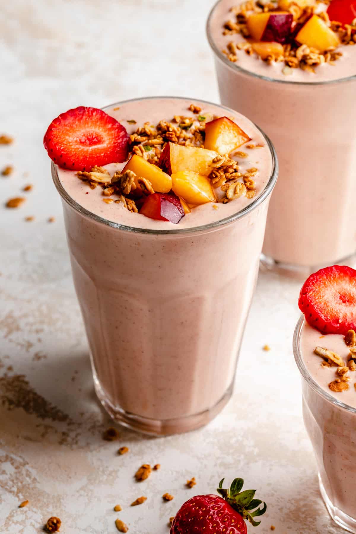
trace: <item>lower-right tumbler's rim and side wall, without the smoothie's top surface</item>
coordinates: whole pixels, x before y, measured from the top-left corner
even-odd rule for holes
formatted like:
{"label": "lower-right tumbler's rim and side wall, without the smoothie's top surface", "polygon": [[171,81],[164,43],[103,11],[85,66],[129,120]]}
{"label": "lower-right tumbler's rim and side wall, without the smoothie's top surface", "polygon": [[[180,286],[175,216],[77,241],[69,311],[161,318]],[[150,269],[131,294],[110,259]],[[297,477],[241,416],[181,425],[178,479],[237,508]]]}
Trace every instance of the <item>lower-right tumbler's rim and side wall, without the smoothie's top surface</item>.
{"label": "lower-right tumbler's rim and side wall, without the smoothie's top surface", "polygon": [[319,471],[321,496],[331,518],[356,533],[356,409],[315,382],[300,354],[304,317],[294,332],[293,351],[302,374],[303,418]]}

